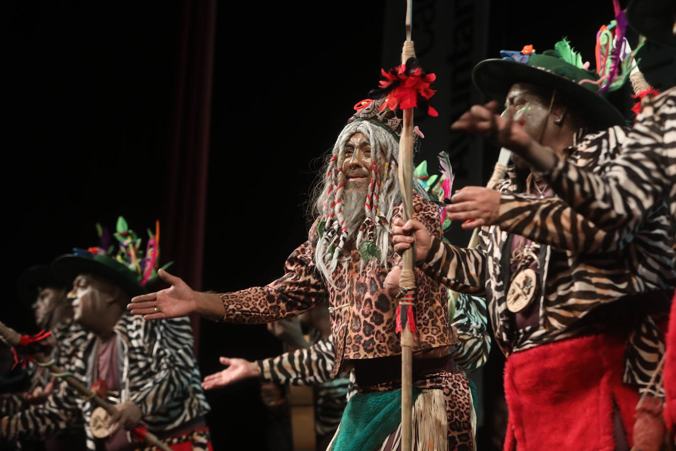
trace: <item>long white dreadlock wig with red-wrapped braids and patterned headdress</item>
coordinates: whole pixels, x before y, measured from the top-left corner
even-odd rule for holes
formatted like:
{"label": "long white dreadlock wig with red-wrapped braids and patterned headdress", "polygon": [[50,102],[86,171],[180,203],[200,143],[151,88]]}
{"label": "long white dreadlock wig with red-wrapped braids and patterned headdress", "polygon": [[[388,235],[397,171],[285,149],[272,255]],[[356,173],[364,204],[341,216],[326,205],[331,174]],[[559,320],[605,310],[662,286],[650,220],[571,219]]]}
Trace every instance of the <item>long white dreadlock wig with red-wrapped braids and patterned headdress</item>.
{"label": "long white dreadlock wig with red-wrapped braids and patterned headdress", "polygon": [[[395,133],[401,132],[402,121],[389,110],[380,112],[382,103],[382,100],[369,99],[355,105],[357,112],[338,135],[331,160],[324,170],[324,184],[316,200],[316,210],[324,222],[326,234],[317,243],[315,264],[329,282],[341,250],[354,236],[357,226],[356,249],[360,249],[364,242],[374,243],[379,250],[387,249],[389,245],[387,224],[392,218],[393,208],[402,201],[399,178],[397,172],[392,170],[399,153],[399,139]],[[364,150],[355,148],[352,142],[355,135],[358,139],[363,135],[365,141],[362,142],[370,144],[370,158],[366,156],[371,165],[367,191],[360,189],[363,184],[351,182],[355,178],[362,178],[359,176],[367,169],[360,162],[360,158],[365,157]],[[349,166],[362,167],[352,170]],[[352,175],[356,177],[351,179]],[[363,201],[346,203],[345,196],[361,198]],[[363,220],[360,215],[362,209],[354,208],[362,204]],[[349,214],[346,215],[343,209]],[[372,246],[370,248],[373,249]],[[368,247],[364,247],[364,250],[368,252]],[[383,266],[387,266],[387,252],[380,254],[379,260]]]}

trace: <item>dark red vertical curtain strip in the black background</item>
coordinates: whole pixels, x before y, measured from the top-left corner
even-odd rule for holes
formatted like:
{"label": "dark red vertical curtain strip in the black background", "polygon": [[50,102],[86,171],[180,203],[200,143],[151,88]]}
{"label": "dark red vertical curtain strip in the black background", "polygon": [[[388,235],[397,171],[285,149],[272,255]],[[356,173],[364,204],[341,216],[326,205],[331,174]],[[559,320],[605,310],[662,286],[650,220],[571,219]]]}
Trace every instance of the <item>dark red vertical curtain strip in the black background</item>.
{"label": "dark red vertical curtain strip in the black background", "polygon": [[[170,130],[163,252],[172,272],[202,289],[216,0],[185,0]],[[199,318],[191,318],[195,354]]]}

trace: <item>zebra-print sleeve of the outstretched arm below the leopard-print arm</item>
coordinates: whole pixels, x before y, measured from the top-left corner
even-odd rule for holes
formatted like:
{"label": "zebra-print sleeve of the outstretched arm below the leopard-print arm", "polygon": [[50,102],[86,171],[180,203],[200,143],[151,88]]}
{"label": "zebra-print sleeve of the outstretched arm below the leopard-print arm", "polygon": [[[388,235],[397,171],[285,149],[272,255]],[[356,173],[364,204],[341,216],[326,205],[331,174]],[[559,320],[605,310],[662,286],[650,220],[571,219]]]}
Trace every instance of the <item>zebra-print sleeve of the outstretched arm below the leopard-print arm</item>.
{"label": "zebra-print sleeve of the outstretched arm below the leopard-print arm", "polygon": [[291,385],[319,385],[331,378],[335,350],[333,337],[320,339],[310,348],[258,360],[260,379]]}

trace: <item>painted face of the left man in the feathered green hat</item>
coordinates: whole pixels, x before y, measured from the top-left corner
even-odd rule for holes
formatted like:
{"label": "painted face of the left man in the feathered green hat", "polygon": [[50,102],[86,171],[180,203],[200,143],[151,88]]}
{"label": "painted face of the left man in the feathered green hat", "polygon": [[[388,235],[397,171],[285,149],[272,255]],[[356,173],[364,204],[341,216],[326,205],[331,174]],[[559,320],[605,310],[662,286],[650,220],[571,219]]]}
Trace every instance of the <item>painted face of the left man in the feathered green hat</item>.
{"label": "painted face of the left man in the feathered green hat", "polygon": [[113,292],[114,285],[110,282],[91,274],[78,275],[68,293],[73,305],[73,320],[92,329],[99,323],[101,315],[107,314],[114,300]]}

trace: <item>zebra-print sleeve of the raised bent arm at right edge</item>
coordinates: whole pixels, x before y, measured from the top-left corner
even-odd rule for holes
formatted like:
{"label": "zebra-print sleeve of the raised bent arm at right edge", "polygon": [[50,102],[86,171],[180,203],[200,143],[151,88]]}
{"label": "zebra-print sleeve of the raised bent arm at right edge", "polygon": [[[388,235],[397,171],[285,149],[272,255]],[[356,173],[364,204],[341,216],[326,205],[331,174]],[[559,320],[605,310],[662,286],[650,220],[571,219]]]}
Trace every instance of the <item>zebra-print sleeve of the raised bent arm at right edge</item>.
{"label": "zebra-print sleeve of the raised bent arm at right edge", "polygon": [[602,176],[565,159],[543,175],[577,212],[605,230],[630,233],[667,195],[676,215],[676,87],[644,108],[623,153]]}

